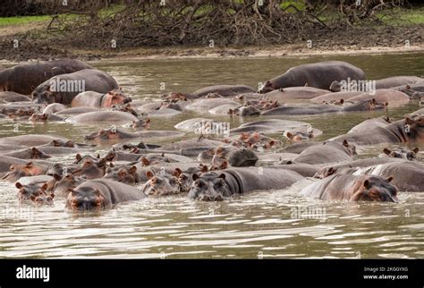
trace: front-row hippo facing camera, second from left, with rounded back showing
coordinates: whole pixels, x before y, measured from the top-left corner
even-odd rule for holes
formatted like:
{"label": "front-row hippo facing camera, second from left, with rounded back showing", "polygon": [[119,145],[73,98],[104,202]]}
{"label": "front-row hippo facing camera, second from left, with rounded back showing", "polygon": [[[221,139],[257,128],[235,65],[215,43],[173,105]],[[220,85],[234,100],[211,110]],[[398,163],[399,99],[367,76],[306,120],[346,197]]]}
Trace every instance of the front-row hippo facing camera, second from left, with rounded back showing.
{"label": "front-row hippo facing camera, second from left, with rounded back showing", "polygon": [[145,197],[142,191],[122,182],[96,179],[71,189],[66,199],[66,208],[72,211],[98,210]]}

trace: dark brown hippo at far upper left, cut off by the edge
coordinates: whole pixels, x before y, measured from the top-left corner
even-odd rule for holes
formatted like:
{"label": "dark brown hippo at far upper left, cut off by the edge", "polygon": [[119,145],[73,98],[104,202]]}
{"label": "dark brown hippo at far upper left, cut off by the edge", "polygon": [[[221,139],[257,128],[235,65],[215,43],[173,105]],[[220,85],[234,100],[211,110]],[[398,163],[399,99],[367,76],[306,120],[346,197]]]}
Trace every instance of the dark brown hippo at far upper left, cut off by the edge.
{"label": "dark brown hippo at far upper left, cut off by the edge", "polygon": [[0,89],[30,95],[35,87],[55,75],[92,68],[81,61],[67,58],[16,65],[0,72]]}

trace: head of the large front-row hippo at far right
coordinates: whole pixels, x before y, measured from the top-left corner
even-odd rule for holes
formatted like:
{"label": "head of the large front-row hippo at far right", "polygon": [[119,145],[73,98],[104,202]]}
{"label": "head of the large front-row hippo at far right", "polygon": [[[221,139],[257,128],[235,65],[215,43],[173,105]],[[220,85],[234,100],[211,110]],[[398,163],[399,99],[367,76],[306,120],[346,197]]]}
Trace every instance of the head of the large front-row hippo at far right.
{"label": "head of the large front-row hippo at far right", "polygon": [[351,201],[378,201],[378,202],[398,202],[396,198],[397,188],[390,184],[393,177],[383,179],[377,176],[369,176],[362,182],[361,187],[356,191]]}

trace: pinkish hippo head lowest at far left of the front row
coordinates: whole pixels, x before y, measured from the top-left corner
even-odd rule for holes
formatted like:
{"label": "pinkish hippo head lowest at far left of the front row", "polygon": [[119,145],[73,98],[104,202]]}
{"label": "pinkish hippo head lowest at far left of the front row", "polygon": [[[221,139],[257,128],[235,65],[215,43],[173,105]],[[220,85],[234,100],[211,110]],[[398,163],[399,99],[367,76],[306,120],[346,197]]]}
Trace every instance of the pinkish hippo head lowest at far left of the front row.
{"label": "pinkish hippo head lowest at far left of the front row", "polygon": [[36,206],[53,204],[53,198],[55,196],[53,194],[47,194],[47,183],[43,186],[38,186],[36,184],[22,185],[21,182],[16,182],[14,185],[19,189],[18,200],[20,203],[31,201]]}

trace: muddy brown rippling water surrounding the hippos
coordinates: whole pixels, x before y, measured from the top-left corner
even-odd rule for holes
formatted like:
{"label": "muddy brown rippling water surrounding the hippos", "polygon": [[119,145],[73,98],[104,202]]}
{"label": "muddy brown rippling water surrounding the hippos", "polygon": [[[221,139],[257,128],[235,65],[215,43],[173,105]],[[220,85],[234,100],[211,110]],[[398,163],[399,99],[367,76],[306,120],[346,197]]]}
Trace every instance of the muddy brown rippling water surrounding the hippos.
{"label": "muddy brown rippling water surrounding the hippos", "polygon": [[[328,59],[356,64],[368,79],[424,75],[424,54],[93,65],[110,72],[134,99],[140,99],[213,84],[256,87],[259,81],[291,66]],[[161,90],[164,84],[165,90]],[[311,123],[324,131],[318,139],[323,140],[349,131],[369,116],[388,114],[399,119],[418,108],[418,103],[412,102],[388,112],[286,118]],[[151,129],[174,130],[175,123],[194,116],[230,122],[232,128],[259,119],[230,121],[227,117],[187,113],[153,118]],[[54,133],[82,140],[83,135],[96,130],[98,127],[68,123],[0,122],[0,137]],[[360,157],[376,156],[381,148],[362,149]],[[422,162],[422,152],[419,158]],[[64,199],[56,199],[53,208],[19,206],[13,184],[0,182],[0,258],[424,258],[424,193],[400,193],[400,203],[396,204],[326,203],[298,195],[310,182],[219,203],[175,196],[143,199],[83,215],[65,211]]]}

